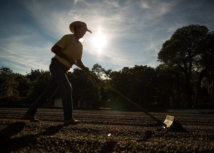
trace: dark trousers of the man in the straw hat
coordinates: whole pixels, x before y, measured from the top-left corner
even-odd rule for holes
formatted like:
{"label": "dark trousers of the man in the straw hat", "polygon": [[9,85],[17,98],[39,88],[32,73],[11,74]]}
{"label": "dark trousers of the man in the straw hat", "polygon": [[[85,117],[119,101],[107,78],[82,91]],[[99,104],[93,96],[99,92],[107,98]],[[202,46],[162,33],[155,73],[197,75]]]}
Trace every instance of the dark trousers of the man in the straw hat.
{"label": "dark trousers of the man in the straw hat", "polygon": [[36,101],[29,107],[27,113],[34,116],[37,109],[53,96],[59,89],[62,97],[64,120],[73,119],[73,99],[72,99],[72,85],[68,80],[67,73],[69,68],[60,63],[56,58],[52,58],[50,64],[51,79],[43,91],[43,93],[36,99]]}

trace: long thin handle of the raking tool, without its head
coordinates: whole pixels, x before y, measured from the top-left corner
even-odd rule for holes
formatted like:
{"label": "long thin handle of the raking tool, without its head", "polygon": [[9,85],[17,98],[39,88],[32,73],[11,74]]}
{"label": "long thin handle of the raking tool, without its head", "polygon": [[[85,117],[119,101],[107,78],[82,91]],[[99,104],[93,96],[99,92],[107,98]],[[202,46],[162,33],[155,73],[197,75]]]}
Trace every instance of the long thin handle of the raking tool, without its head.
{"label": "long thin handle of the raking tool, without its head", "polygon": [[124,96],[123,94],[121,94],[119,91],[117,91],[116,89],[114,89],[113,87],[111,87],[110,85],[107,85],[106,83],[104,83],[103,81],[101,81],[100,79],[98,79],[96,76],[94,76],[92,73],[90,73],[90,75],[92,77],[94,77],[97,81],[101,82],[102,85],[106,85],[108,86],[113,92],[115,92],[116,94],[118,94],[120,97],[122,97],[123,99],[125,99],[126,101],[128,101],[129,103],[135,105],[137,108],[139,108],[141,111],[143,111],[145,114],[147,114],[148,116],[150,116],[152,119],[154,119],[155,121],[158,122],[158,124],[165,126],[166,124],[164,124],[163,122],[161,122],[159,119],[157,119],[156,117],[154,117],[153,115],[151,115],[148,111],[146,111],[145,109],[143,109],[141,106],[139,106],[138,104],[136,104],[135,102],[133,102],[132,100],[130,100],[129,98],[127,98],[126,96]]}

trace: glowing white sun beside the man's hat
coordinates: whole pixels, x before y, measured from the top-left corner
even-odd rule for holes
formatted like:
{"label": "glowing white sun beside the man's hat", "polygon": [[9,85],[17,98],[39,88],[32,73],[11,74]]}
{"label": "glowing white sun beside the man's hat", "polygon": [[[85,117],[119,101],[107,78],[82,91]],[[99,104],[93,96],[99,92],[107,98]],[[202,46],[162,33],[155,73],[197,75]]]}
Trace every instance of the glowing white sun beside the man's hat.
{"label": "glowing white sun beside the man's hat", "polygon": [[106,46],[107,39],[105,35],[102,33],[102,30],[99,29],[98,34],[93,39],[94,46],[98,49],[98,52],[101,52],[103,48]]}

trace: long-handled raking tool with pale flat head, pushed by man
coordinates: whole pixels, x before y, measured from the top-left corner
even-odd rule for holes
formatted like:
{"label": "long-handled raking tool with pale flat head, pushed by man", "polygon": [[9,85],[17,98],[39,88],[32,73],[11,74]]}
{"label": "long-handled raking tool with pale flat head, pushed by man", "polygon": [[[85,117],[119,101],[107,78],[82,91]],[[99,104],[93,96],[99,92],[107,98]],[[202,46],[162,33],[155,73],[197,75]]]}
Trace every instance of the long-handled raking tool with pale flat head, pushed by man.
{"label": "long-handled raking tool with pale flat head, pushed by man", "polygon": [[141,106],[139,106],[138,104],[136,104],[135,102],[133,102],[132,100],[130,100],[129,98],[127,98],[126,96],[124,96],[123,94],[121,94],[119,91],[117,91],[113,87],[111,87],[109,84],[106,84],[103,81],[101,81],[100,79],[98,79],[93,73],[90,73],[90,76],[93,78],[93,80],[95,82],[98,82],[102,86],[108,87],[114,93],[116,93],[117,95],[119,95],[121,98],[123,98],[124,100],[126,100],[129,103],[133,104],[138,109],[140,109],[141,111],[143,111],[145,114],[147,114],[148,116],[150,116],[152,119],[154,119],[155,121],[157,121],[158,125],[162,126],[164,129],[173,129],[175,131],[185,131],[186,132],[186,130],[183,128],[183,126],[180,124],[180,122],[177,121],[177,120],[175,120],[174,116],[167,115],[166,119],[164,120],[164,122],[162,122],[159,119],[157,119],[156,117],[154,117],[153,115],[151,115],[144,108],[142,108]]}

